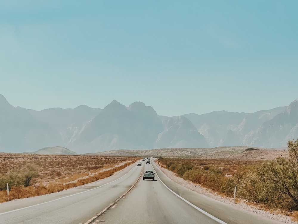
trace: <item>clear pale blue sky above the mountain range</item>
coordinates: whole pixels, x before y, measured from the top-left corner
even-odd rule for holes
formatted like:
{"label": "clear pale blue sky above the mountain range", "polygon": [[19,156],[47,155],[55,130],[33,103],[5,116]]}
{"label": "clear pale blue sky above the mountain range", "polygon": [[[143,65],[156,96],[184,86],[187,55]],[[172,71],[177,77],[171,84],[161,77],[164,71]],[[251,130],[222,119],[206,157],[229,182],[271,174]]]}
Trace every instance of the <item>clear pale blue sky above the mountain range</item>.
{"label": "clear pale blue sky above the mountain range", "polygon": [[159,115],[298,98],[298,1],[0,1],[0,94],[43,110],[116,99]]}

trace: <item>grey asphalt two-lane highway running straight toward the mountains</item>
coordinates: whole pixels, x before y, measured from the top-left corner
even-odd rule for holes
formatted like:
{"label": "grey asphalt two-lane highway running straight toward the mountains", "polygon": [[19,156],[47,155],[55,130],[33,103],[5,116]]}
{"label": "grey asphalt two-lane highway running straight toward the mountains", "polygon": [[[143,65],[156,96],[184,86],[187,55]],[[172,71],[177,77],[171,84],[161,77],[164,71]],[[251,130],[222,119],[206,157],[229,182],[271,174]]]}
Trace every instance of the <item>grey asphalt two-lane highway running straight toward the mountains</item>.
{"label": "grey asphalt two-lane highway running straight toward the mountains", "polygon": [[[154,170],[155,181],[140,178],[144,170]],[[166,177],[154,162],[144,161],[91,184],[0,204],[0,223],[5,224],[143,222],[280,224],[191,191]]]}

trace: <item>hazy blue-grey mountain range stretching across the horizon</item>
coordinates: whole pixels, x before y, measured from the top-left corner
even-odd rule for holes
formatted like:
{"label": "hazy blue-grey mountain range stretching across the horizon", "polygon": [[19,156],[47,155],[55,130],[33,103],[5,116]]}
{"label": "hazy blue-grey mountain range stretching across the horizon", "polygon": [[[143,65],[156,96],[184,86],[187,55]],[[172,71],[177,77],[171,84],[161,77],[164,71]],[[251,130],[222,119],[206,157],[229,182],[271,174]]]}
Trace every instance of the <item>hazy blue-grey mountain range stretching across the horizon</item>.
{"label": "hazy blue-grey mountain range stretching across the horizon", "polygon": [[117,149],[286,147],[298,138],[298,101],[255,113],[216,111],[159,116],[150,106],[112,101],[103,109],[34,111],[13,107],[0,94],[0,151],[32,152],[61,146],[79,154]]}

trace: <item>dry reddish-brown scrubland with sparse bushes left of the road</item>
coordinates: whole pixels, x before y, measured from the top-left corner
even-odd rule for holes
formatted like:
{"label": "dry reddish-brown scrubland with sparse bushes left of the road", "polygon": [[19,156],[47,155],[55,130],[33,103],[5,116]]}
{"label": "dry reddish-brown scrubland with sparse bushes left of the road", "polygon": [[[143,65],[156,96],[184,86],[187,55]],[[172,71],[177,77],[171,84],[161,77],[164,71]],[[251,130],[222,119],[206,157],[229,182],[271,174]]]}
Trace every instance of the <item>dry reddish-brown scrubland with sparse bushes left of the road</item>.
{"label": "dry reddish-brown scrubland with sparse bushes left of the road", "polygon": [[91,183],[113,175],[137,159],[0,153],[0,203]]}

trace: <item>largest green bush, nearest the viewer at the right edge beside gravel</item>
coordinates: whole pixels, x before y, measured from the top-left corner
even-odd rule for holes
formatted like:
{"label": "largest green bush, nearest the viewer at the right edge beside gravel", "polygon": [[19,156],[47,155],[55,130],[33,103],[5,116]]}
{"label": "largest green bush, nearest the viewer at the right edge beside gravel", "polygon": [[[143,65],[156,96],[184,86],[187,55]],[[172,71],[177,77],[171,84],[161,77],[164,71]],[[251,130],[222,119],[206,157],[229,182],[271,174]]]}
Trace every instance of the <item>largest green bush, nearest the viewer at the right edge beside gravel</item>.
{"label": "largest green bush, nearest the viewer at the right edge beside gravel", "polygon": [[288,142],[290,160],[279,157],[250,172],[239,184],[239,196],[272,208],[298,210],[298,139]]}

